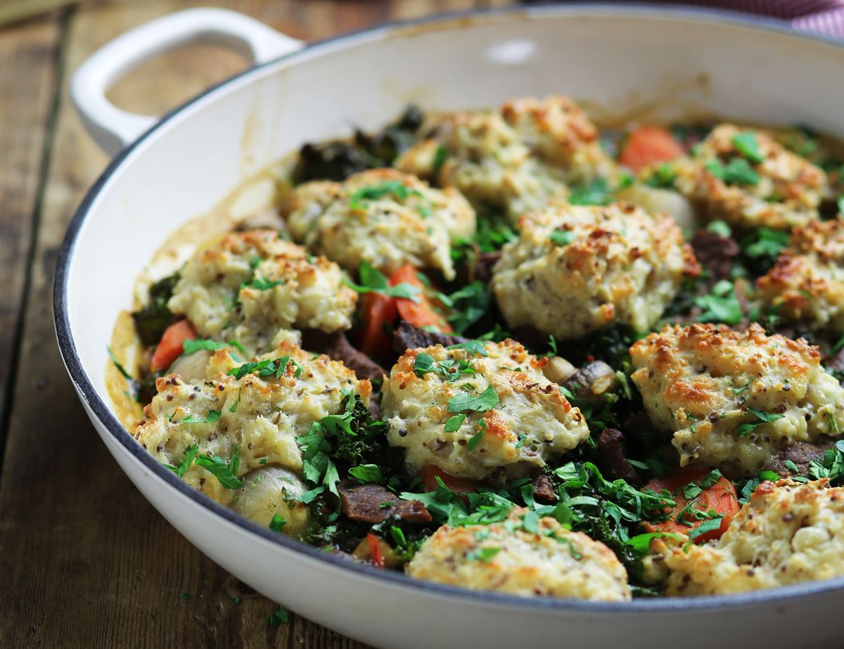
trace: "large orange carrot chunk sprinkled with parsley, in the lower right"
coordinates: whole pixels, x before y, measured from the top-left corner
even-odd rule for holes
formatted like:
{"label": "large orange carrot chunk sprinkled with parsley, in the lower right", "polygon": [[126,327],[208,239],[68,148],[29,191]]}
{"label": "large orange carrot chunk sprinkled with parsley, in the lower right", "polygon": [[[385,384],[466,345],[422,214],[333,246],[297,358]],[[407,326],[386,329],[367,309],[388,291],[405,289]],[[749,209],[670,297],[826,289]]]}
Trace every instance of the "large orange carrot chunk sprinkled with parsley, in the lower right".
{"label": "large orange carrot chunk sprinkled with parsley, in the lower right", "polygon": [[[653,489],[657,494],[663,489],[670,491],[672,499],[676,503],[667,521],[645,523],[647,531],[689,534],[706,521],[706,519],[698,520],[695,518],[694,512],[691,511],[691,509],[695,509],[697,511],[714,511],[723,516],[720,527],[702,533],[695,538],[695,543],[700,544],[714,538],[721,538],[721,535],[727,531],[733,516],[740,509],[736,489],[728,479],[722,476],[709,489],[703,489],[700,495],[693,499],[694,505],[689,510],[684,511],[686,506],[689,505],[689,500],[686,500],[683,488],[690,484],[699,483],[701,479],[706,477],[707,473],[709,473],[709,470],[706,468],[684,468],[668,478],[652,479],[646,484],[645,489]],[[682,521],[678,521],[678,516],[681,514]]]}

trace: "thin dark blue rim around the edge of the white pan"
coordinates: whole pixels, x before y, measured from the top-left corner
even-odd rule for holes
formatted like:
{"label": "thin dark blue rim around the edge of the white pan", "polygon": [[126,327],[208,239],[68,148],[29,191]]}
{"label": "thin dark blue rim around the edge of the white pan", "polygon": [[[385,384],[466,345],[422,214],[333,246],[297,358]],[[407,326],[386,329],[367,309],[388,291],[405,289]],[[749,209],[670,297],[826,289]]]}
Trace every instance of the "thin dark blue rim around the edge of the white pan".
{"label": "thin dark blue rim around the edge of the white pan", "polygon": [[[261,65],[248,68],[235,76],[225,79],[225,81],[215,84],[214,86],[205,90],[201,95],[188,100],[186,103],[176,107],[172,111],[167,112],[161,117],[160,122],[157,122],[146,133],[143,133],[135,142],[129,144],[126,149],[123,149],[116,155],[111,164],[102,173],[100,178],[90,188],[85,195],[82,203],[80,203],[73,220],[68,226],[68,233],[65,235],[62,242],[62,248],[59,251],[56,276],[53,285],[53,316],[56,325],[56,335],[58,339],[59,349],[62,353],[62,359],[68,368],[68,373],[71,376],[73,384],[77,387],[78,392],[87,403],[88,407],[95,414],[96,418],[102,422],[122,446],[124,446],[138,462],[143,464],[151,473],[154,473],[158,479],[164,480],[170,487],[179,491],[182,495],[187,496],[197,504],[213,511],[214,514],[225,521],[234,523],[240,527],[245,527],[249,532],[257,534],[257,536],[264,538],[274,544],[279,544],[286,549],[294,550],[297,553],[305,555],[311,560],[319,560],[336,566],[340,571],[351,571],[357,573],[359,576],[365,576],[371,579],[385,580],[392,582],[395,585],[408,588],[416,588],[430,594],[437,594],[449,598],[466,599],[475,603],[489,603],[491,605],[500,605],[507,607],[519,608],[541,608],[544,610],[557,611],[583,611],[590,613],[662,613],[667,611],[689,611],[701,609],[713,609],[721,607],[747,607],[759,604],[783,602],[794,598],[802,598],[809,595],[818,595],[825,592],[838,591],[844,588],[844,578],[837,578],[829,581],[812,581],[805,584],[797,584],[788,587],[774,588],[768,590],[760,590],[754,592],[746,592],[736,595],[717,595],[700,598],[642,598],[635,599],[630,602],[587,602],[582,600],[572,600],[565,598],[520,598],[514,595],[506,595],[495,592],[480,592],[471,591],[464,588],[446,586],[432,581],[422,581],[413,579],[397,571],[381,571],[368,565],[354,564],[349,560],[343,559],[332,554],[327,554],[313,546],[301,543],[285,536],[284,534],[275,533],[267,527],[257,525],[257,523],[246,519],[235,511],[220,505],[218,502],[211,500],[208,496],[193,489],[186,482],[182,481],[176,475],[166,468],[162,467],[154,457],[146,452],[137,441],[135,441],[126,429],[117,421],[116,417],[111,414],[111,410],[106,403],[100,398],[91,383],[88,374],[82,367],[77,353],[76,345],[73,342],[73,336],[70,331],[70,322],[68,317],[68,267],[73,257],[73,249],[76,243],[76,238],[79,230],[84,224],[86,215],[99,195],[100,190],[106,185],[106,182],[111,179],[111,176],[122,165],[123,161],[132,154],[133,150],[138,147],[140,143],[151,135],[153,135],[165,122],[168,122],[179,112],[193,105],[208,95],[212,95],[217,89],[230,84],[238,78],[249,76],[256,73],[257,70],[268,68],[276,65],[281,61],[295,62],[297,57],[301,57],[303,53],[311,53],[319,51],[325,46],[335,46],[338,43],[361,40],[361,37],[371,37],[379,35],[388,35],[391,32],[397,32],[400,35],[401,30],[407,27],[414,27],[417,25],[435,25],[442,24],[447,28],[449,24],[454,21],[460,21],[467,18],[478,19],[506,19],[511,15],[525,15],[535,16],[541,14],[555,14],[555,15],[581,15],[588,14],[592,16],[610,16],[610,15],[628,15],[628,16],[642,16],[648,18],[683,18],[683,19],[701,19],[707,22],[715,22],[722,24],[733,24],[740,27],[748,27],[756,30],[766,30],[777,32],[782,35],[788,35],[793,38],[799,38],[808,41],[818,41],[828,44],[830,46],[841,47],[841,43],[834,41],[825,36],[805,34],[803,32],[793,30],[786,22],[770,19],[759,18],[755,16],[747,16],[744,14],[736,14],[730,11],[721,9],[708,9],[696,7],[674,6],[667,7],[654,4],[641,3],[565,3],[565,4],[544,4],[533,7],[506,7],[506,8],[485,8],[476,9],[464,12],[455,12],[449,14],[437,14],[434,16],[426,16],[424,18],[412,19],[398,23],[385,24],[376,26],[367,30],[360,30],[349,34],[339,35],[325,41],[318,41],[303,47],[301,50],[286,54],[282,57],[273,59],[273,61],[262,63]],[[295,608],[295,603],[292,603]]]}

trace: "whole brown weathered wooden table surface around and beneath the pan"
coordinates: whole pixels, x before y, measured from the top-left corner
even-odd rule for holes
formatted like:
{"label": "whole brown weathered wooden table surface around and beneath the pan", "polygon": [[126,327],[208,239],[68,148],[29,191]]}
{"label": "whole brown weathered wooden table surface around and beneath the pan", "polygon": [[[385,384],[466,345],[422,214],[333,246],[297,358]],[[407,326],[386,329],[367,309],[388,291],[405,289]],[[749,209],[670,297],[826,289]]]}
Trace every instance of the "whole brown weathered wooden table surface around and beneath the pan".
{"label": "whole brown weathered wooden table surface around and beneath the pan", "polygon": [[[393,19],[509,3],[219,4],[310,41]],[[3,647],[361,646],[295,614],[288,625],[268,626],[276,605],[176,533],[118,468],[58,354],[51,308],[57,251],[74,209],[108,162],[73,111],[68,77],[114,36],[196,4],[208,3],[83,2],[0,28]],[[157,114],[246,64],[229,51],[188,46],[144,64],[110,96],[124,108]],[[295,602],[285,604],[295,610]]]}

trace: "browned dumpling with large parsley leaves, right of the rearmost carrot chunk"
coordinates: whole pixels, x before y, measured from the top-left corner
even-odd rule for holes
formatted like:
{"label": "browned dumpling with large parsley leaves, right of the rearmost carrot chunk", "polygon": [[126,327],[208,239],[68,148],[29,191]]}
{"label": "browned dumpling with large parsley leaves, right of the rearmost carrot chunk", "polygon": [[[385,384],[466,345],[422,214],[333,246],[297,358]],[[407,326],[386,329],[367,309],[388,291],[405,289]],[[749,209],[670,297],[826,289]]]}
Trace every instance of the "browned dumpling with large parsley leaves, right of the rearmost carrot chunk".
{"label": "browned dumpling with large parsley leaves, right of the rearmost carrot chunk", "polygon": [[[737,138],[755,141],[761,161],[737,149]],[[744,169],[739,174],[728,170],[724,176],[731,162]],[[788,151],[765,131],[733,124],[715,127],[690,158],[672,167],[675,187],[698,202],[707,219],[722,219],[742,230],[791,230],[817,219],[826,187],[820,167]]]}

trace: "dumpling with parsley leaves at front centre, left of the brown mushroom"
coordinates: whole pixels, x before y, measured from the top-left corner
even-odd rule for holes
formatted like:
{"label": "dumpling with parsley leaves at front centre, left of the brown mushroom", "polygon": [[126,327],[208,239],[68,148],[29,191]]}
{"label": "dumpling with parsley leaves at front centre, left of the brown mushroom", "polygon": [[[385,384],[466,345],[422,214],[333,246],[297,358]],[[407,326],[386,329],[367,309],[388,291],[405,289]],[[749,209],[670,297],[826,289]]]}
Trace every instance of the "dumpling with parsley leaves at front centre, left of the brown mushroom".
{"label": "dumpling with parsley leaves at front centre, left of the brown mushroom", "polygon": [[[411,468],[435,465],[464,478],[512,479],[543,467],[589,436],[580,410],[545,378],[547,358],[528,354],[512,340],[483,347],[483,356],[441,345],[409,349],[393,366],[381,413],[389,424],[387,441],[406,449]],[[423,371],[424,361],[434,369]],[[454,418],[460,417],[457,408],[448,408],[452,398],[484,392],[489,408],[463,411],[466,418],[459,427],[446,432],[449,419],[456,425]]]}

